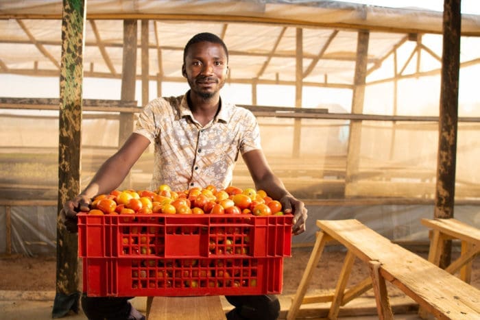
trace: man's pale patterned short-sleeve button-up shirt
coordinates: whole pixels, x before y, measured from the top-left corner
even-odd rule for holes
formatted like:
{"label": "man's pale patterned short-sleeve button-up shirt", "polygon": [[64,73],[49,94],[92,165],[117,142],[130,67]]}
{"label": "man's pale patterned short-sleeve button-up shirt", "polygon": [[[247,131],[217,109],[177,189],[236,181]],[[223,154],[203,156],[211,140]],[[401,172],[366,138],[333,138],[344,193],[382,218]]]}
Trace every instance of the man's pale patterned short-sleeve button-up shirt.
{"label": "man's pale patterned short-sleeve button-up shirt", "polygon": [[261,149],[259,125],[250,110],[221,101],[215,118],[202,127],[187,95],[150,101],[134,132],[154,144],[151,190],[160,184],[172,190],[208,184],[226,188],[239,153]]}

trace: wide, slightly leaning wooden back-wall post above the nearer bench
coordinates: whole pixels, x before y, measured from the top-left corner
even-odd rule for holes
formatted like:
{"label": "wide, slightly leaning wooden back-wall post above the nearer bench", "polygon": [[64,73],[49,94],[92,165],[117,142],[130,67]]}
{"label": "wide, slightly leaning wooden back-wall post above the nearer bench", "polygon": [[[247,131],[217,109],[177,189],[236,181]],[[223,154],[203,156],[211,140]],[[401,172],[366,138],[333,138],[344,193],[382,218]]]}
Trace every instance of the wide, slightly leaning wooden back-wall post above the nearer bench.
{"label": "wide, slightly leaning wooden back-wall post above the nearer bench", "polygon": [[[357,62],[355,64],[355,78],[352,113],[361,114],[363,112],[363,99],[365,97],[365,77],[367,76],[368,60],[368,41],[370,33],[368,31],[359,31],[357,40]],[[360,147],[361,147],[361,120],[350,121],[350,134],[348,136],[347,167],[345,179],[345,196],[355,196],[356,190],[353,183],[357,180],[360,165]]]}

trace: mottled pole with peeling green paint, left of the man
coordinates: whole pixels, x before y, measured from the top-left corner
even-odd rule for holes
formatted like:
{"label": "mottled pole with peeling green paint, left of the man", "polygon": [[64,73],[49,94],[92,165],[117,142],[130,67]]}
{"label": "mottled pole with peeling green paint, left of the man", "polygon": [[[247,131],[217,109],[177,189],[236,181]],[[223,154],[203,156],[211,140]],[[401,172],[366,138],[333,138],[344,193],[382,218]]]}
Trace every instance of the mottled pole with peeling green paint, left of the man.
{"label": "mottled pole with peeling green paint, left of the man", "polygon": [[[86,0],[63,0],[62,61],[58,141],[58,212],[80,193],[82,143],[82,82]],[[57,222],[56,296],[52,317],[78,312],[78,239]]]}

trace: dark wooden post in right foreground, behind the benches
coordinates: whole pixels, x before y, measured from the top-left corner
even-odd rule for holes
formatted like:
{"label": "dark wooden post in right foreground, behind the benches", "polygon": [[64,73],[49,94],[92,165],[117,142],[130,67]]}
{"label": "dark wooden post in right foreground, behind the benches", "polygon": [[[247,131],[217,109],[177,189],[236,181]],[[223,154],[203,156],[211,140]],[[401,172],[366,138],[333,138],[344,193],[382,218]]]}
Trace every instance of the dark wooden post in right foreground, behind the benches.
{"label": "dark wooden post in right foreground, behind the benches", "polygon": [[[435,218],[453,218],[457,157],[458,84],[460,66],[460,0],[444,0],[442,79],[437,153]],[[440,267],[451,262],[451,241],[446,243]]]}

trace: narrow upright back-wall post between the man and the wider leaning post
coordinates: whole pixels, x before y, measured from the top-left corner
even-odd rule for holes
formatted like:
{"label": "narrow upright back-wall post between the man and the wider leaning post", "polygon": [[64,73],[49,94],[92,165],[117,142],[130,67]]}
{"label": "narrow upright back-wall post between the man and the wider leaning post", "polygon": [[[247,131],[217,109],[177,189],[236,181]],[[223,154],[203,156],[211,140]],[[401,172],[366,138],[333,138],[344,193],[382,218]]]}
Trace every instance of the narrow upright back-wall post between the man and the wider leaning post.
{"label": "narrow upright back-wall post between the man and the wider leaning post", "polygon": [[[303,83],[303,29],[296,33],[296,69],[295,69],[295,108],[302,108]],[[293,158],[300,158],[300,140],[302,136],[302,120],[293,120]]]}

